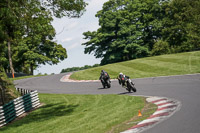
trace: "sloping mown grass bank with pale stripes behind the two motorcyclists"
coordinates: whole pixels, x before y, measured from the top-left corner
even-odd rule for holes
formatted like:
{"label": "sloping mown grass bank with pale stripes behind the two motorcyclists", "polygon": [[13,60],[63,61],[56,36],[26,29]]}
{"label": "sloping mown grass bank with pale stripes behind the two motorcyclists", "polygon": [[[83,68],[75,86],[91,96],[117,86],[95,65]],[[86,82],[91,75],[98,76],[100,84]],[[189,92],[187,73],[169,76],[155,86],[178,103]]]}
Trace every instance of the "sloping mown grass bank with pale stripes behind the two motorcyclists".
{"label": "sloping mown grass bank with pale stripes behind the two motorcyclists", "polygon": [[113,63],[75,72],[70,78],[76,80],[97,80],[102,69],[107,71],[111,78],[116,78],[120,72],[123,72],[131,78],[200,73],[200,51]]}

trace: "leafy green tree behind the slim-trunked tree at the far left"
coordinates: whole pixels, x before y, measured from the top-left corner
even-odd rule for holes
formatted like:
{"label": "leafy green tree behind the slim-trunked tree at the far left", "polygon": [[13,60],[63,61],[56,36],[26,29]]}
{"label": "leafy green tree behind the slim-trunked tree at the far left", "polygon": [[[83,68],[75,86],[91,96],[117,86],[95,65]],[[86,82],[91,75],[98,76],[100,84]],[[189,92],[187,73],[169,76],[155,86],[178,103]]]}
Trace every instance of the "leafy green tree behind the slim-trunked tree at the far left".
{"label": "leafy green tree behind the slim-trunked tree at the far left", "polygon": [[[18,46],[14,49],[15,64],[17,68],[26,70],[30,68],[30,74],[39,64],[57,64],[59,60],[67,57],[66,50],[52,40],[55,30],[51,25],[52,16],[50,12],[40,10],[41,7],[30,5],[34,12],[26,14],[25,31],[26,36],[18,41]],[[32,17],[34,15],[34,17]],[[20,57],[18,59],[18,57]],[[18,71],[23,71],[18,69]]]}

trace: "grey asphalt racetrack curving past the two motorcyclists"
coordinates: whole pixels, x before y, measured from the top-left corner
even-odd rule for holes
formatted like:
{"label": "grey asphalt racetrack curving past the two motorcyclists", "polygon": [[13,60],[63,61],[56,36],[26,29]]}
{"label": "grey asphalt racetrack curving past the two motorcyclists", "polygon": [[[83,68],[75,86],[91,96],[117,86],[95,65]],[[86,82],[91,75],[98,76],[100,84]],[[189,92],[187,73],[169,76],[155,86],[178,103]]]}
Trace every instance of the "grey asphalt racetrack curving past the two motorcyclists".
{"label": "grey asphalt racetrack curving past the two motorcyclists", "polygon": [[60,82],[64,75],[23,79],[15,84],[39,93],[146,95],[176,99],[182,104],[180,110],[144,133],[200,133],[200,74],[133,79],[136,93],[127,93],[118,81],[112,81],[109,89],[103,89],[100,82]]}

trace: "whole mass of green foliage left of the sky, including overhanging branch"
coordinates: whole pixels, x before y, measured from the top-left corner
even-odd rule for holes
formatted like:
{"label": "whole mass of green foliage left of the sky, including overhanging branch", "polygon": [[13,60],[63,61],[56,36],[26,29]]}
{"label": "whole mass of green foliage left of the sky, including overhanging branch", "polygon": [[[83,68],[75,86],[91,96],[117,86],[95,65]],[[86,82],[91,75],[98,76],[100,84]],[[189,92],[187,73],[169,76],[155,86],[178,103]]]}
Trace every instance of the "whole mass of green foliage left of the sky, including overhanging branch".
{"label": "whole mass of green foliage left of the sky, including overhanging branch", "polygon": [[54,41],[53,16],[80,17],[86,5],[83,0],[1,0],[0,64],[33,74],[40,64],[67,58],[66,49]]}

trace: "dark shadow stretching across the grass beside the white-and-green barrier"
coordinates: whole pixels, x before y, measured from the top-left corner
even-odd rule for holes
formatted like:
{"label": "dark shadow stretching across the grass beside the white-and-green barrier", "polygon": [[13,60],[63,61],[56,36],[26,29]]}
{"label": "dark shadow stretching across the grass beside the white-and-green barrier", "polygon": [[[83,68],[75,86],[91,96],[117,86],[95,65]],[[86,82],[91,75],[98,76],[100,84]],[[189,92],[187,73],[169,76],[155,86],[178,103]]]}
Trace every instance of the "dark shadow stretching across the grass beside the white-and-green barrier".
{"label": "dark shadow stretching across the grass beside the white-and-green barrier", "polygon": [[15,121],[4,126],[3,128],[0,128],[0,131],[8,130],[9,128],[16,128],[32,122],[42,122],[50,119],[54,120],[57,117],[67,116],[73,113],[74,109],[78,106],[79,105],[65,105],[63,103],[47,104],[31,112],[21,120]]}

